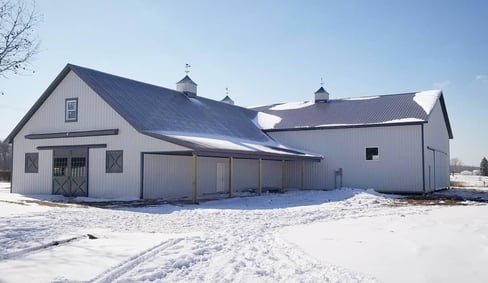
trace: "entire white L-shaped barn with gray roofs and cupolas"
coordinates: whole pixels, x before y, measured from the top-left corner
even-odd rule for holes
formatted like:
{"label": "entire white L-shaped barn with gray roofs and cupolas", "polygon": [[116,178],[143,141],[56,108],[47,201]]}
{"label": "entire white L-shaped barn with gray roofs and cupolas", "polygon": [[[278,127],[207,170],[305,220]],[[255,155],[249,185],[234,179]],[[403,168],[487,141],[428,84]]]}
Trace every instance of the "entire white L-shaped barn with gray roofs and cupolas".
{"label": "entire white L-shaped barn with gray roofs and cupolas", "polygon": [[[362,113],[362,114],[361,114]],[[266,189],[449,186],[439,91],[258,109],[68,64],[7,137],[11,191],[198,199]],[[371,159],[371,160],[369,160]]]}

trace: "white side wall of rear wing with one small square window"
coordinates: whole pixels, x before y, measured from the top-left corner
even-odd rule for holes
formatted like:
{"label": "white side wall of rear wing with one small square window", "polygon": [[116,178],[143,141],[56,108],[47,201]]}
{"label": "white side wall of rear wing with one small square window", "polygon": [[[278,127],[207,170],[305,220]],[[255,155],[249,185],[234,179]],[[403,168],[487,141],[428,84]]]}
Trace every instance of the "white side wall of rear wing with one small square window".
{"label": "white side wall of rear wing with one small square window", "polygon": [[[305,188],[342,186],[375,188],[390,192],[422,190],[421,126],[388,126],[309,131],[269,132],[283,144],[322,154],[320,163],[309,162]],[[366,160],[366,147],[379,148],[379,160]]]}

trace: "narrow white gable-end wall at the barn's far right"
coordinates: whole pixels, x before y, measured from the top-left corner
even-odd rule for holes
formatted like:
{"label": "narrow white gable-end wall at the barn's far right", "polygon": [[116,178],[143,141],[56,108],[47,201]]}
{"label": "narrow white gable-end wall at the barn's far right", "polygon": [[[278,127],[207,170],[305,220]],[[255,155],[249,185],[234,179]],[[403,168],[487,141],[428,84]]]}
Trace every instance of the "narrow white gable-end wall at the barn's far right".
{"label": "narrow white gable-end wall at the barn's far right", "polygon": [[[449,187],[449,134],[439,101],[424,125],[424,140],[426,191]],[[439,151],[434,153],[427,147]]]}

